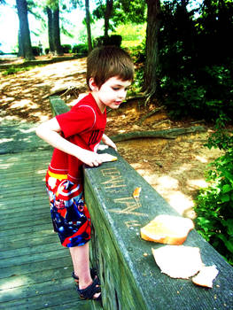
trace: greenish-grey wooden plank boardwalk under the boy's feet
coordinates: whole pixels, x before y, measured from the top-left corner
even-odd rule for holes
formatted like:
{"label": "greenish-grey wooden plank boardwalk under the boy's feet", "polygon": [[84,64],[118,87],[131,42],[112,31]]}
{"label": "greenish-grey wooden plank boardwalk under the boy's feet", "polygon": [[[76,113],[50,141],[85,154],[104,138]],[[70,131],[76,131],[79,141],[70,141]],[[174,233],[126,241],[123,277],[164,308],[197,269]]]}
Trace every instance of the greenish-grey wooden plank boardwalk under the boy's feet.
{"label": "greenish-grey wooden plank boardwalk under the boy's feet", "polygon": [[27,148],[0,155],[0,309],[90,309],[75,291],[69,252],[51,229],[43,182],[50,155]]}

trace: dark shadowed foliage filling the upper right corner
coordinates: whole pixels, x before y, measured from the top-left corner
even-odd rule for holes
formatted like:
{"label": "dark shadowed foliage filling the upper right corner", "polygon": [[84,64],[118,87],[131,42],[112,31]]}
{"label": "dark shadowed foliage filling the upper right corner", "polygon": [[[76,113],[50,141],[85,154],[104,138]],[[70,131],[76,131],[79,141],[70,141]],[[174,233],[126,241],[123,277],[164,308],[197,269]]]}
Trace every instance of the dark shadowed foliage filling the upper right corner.
{"label": "dark shadowed foliage filling the upper right corner", "polygon": [[174,118],[216,120],[224,112],[233,120],[233,50],[226,36],[233,5],[204,1],[198,19],[186,5],[162,6],[158,95]]}

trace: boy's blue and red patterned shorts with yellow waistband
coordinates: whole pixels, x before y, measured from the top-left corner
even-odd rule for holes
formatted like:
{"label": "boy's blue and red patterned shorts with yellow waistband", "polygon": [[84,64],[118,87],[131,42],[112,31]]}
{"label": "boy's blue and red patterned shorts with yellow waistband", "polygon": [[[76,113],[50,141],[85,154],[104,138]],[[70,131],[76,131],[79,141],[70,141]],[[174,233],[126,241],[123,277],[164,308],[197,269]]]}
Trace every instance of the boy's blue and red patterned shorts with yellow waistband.
{"label": "boy's blue and red patterned shorts with yellow waistband", "polygon": [[63,246],[86,244],[90,239],[89,210],[83,200],[83,186],[67,180],[66,174],[46,174],[50,214]]}

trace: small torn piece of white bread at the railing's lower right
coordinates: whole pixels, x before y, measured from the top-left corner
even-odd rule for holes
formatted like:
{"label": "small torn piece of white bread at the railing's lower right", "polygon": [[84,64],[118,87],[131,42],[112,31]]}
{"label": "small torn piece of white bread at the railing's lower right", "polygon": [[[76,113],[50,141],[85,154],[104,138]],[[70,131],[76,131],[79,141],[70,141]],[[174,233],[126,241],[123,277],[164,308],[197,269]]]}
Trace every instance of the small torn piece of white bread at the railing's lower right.
{"label": "small torn piece of white bread at the railing's lower right", "polygon": [[213,282],[219,271],[216,266],[205,266],[200,269],[198,275],[194,276],[191,281],[199,286],[213,288]]}

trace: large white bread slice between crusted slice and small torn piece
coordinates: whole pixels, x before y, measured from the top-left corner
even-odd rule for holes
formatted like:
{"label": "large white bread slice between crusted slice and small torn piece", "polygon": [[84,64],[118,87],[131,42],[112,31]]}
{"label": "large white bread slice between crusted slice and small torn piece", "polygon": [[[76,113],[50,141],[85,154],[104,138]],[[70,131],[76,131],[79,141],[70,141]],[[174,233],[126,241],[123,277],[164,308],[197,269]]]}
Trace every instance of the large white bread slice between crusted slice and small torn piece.
{"label": "large white bread slice between crusted slice and small torn piece", "polygon": [[203,267],[198,247],[165,245],[151,250],[161,272],[172,278],[189,279]]}

